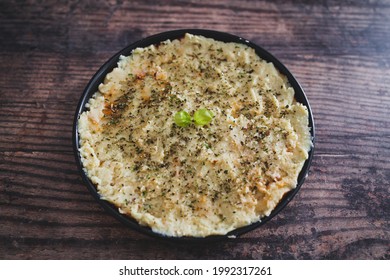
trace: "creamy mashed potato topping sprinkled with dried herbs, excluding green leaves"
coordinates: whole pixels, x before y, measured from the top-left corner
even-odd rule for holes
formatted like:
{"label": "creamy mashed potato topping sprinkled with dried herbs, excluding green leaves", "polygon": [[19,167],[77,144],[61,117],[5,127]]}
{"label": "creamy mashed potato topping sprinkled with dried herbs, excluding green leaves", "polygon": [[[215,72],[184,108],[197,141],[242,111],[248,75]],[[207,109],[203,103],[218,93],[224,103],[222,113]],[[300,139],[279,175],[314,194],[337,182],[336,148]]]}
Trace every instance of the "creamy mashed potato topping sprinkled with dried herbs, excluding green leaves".
{"label": "creamy mashed potato topping sprinkled with dried herbs, excluding green leaves", "polygon": [[[186,34],[121,56],[80,116],[80,153],[102,199],[168,236],[259,221],[295,188],[307,108],[250,47]],[[179,111],[212,112],[178,126]]]}

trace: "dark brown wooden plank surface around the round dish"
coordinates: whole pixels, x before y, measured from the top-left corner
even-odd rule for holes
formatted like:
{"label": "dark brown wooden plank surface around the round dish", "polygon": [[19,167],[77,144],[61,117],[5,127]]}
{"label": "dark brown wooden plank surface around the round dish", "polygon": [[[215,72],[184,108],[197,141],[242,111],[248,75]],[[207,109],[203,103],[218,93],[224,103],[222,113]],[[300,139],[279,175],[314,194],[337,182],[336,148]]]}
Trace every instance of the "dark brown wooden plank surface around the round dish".
{"label": "dark brown wooden plank surface around the round dish", "polygon": [[[72,122],[92,75],[145,36],[206,28],[273,53],[305,89],[311,172],[273,220],[168,244],[104,212]],[[1,1],[1,259],[389,259],[390,1]]]}

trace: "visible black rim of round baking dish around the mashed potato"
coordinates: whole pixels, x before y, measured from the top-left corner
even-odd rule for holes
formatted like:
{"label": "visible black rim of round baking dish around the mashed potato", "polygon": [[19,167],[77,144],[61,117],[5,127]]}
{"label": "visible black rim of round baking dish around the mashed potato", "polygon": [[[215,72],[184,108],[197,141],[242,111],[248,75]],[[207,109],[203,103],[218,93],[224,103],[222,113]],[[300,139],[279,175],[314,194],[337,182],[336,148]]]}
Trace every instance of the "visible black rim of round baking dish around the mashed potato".
{"label": "visible black rim of round baking dish around the mashed potato", "polygon": [[[105,76],[107,73],[111,72],[118,63],[119,56],[120,55],[125,55],[128,56],[131,54],[132,50],[135,48],[143,48],[147,47],[152,44],[158,44],[162,41],[165,40],[174,40],[174,39],[179,39],[184,36],[185,33],[191,33],[194,35],[202,35],[207,38],[212,38],[218,41],[222,42],[235,42],[235,43],[241,43],[248,45],[249,47],[253,48],[256,53],[263,59],[265,59],[268,62],[272,62],[275,67],[282,73],[284,74],[288,80],[290,85],[294,88],[295,90],[295,99],[304,104],[309,112],[309,126],[311,127],[311,136],[312,136],[312,142],[313,146],[312,149],[309,151],[309,157],[306,160],[299,176],[298,176],[298,184],[295,189],[291,190],[290,192],[286,193],[282,200],[279,202],[279,204],[276,206],[276,208],[271,212],[271,214],[268,217],[264,217],[261,219],[261,221],[253,223],[251,225],[247,225],[238,229],[235,229],[231,232],[229,232],[226,235],[216,235],[216,236],[207,236],[207,237],[170,237],[170,236],[164,236],[159,233],[153,232],[149,227],[141,226],[136,220],[132,219],[129,216],[123,215],[119,213],[118,209],[116,206],[113,204],[109,203],[108,201],[100,199],[100,195],[98,194],[96,187],[94,184],[89,180],[87,177],[86,173],[83,170],[83,165],[81,162],[80,158],[80,153],[79,153],[79,135],[78,135],[78,119],[80,114],[82,114],[86,108],[85,105],[88,103],[88,100],[92,97],[92,95],[98,90],[98,86],[100,83],[103,82]],[[180,242],[191,242],[191,241],[216,241],[216,240],[226,240],[231,237],[238,237],[244,233],[247,233],[261,225],[264,225],[266,222],[271,220],[275,215],[277,215],[290,201],[291,199],[296,195],[296,193],[299,191],[301,185],[303,184],[305,178],[307,177],[307,174],[309,172],[310,164],[313,158],[313,152],[314,152],[314,140],[315,140],[315,128],[314,128],[314,119],[312,115],[312,111],[309,105],[309,102],[306,98],[306,95],[298,83],[298,81],[294,78],[294,76],[290,73],[290,71],[277,59],[275,58],[272,54],[270,54],[268,51],[264,50],[260,46],[245,40],[241,37],[231,35],[228,33],[224,32],[219,32],[219,31],[213,31],[213,30],[203,30],[203,29],[181,29],[181,30],[173,30],[173,31],[168,31],[160,34],[156,34],[150,37],[147,37],[145,39],[142,39],[138,42],[135,42],[114,56],[112,56],[103,66],[96,72],[96,74],[92,77],[92,79],[89,81],[88,85],[84,89],[84,92],[80,98],[80,101],[77,105],[75,117],[74,117],[74,122],[73,122],[73,149],[74,149],[74,154],[76,157],[76,163],[77,167],[80,171],[80,174],[88,187],[89,191],[91,194],[95,197],[95,199],[100,203],[100,205],[112,216],[117,218],[119,221],[121,221],[123,224],[126,226],[135,229],[141,233],[147,234],[149,236],[153,237],[158,237],[158,238],[163,238],[164,240],[171,240],[171,241],[180,241]]]}

